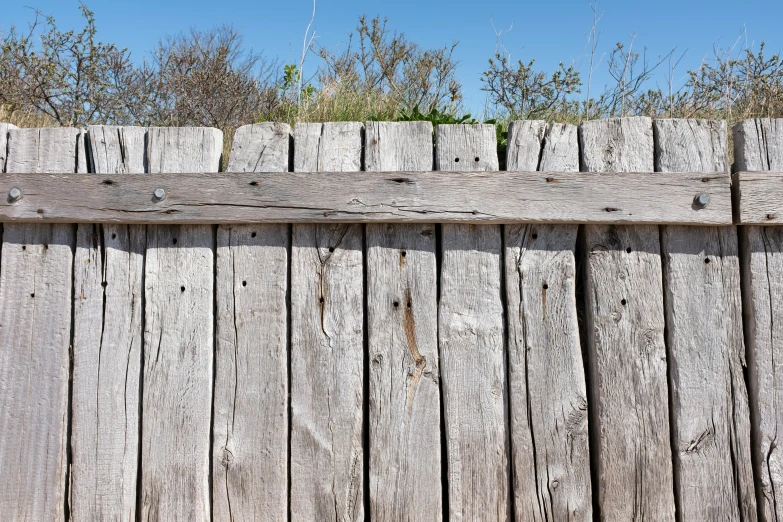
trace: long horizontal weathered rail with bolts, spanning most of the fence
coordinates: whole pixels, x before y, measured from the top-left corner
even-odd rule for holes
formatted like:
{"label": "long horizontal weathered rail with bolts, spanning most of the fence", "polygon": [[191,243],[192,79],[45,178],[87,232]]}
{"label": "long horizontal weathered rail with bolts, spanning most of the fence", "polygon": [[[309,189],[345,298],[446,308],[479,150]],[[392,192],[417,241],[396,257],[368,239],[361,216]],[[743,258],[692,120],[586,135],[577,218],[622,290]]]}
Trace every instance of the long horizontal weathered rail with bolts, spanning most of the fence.
{"label": "long horizontal weathered rail with bolts, spanning most of the fence", "polygon": [[732,223],[725,173],[9,173],[0,191],[4,222]]}

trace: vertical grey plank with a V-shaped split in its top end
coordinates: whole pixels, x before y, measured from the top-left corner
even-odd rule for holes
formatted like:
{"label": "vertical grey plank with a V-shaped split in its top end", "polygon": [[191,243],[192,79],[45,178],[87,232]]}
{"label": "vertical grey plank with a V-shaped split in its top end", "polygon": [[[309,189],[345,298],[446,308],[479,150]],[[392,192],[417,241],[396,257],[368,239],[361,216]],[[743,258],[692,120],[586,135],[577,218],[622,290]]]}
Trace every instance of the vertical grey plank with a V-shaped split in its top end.
{"label": "vertical grey plank with a V-shaped split in its top end", "polygon": [[[513,122],[509,128],[509,135],[515,130],[509,169],[578,172],[576,126],[554,124],[544,138],[537,123]],[[576,311],[577,231],[576,225],[505,227],[516,520],[593,518]]]}

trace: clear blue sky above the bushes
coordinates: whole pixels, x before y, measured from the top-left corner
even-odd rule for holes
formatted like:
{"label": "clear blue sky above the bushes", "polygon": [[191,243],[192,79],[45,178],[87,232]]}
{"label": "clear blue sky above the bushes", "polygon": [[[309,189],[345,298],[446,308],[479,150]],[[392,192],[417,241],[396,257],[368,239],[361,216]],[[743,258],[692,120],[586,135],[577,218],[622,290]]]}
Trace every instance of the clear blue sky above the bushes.
{"label": "clear blue sky above the bushes", "polygon": [[[254,50],[268,58],[296,62],[313,8],[312,0],[86,3],[95,12],[99,39],[127,47],[136,59],[166,34],[231,24]],[[25,6],[53,15],[63,28],[81,23],[77,0],[3,0],[0,29],[30,21],[32,13]],[[599,56],[618,41],[628,42],[635,32],[635,47],[646,46],[652,59],[674,47],[678,55],[687,51],[674,74],[680,84],[688,69],[712,56],[715,45],[730,47],[743,31],[754,48],[765,41],[769,54],[783,51],[781,0],[599,0],[598,13],[602,15]],[[495,30],[503,31],[503,44],[513,59],[535,58],[544,70],[554,69],[560,61],[575,62],[586,73],[586,34],[592,25],[589,0],[317,0],[313,27],[319,43],[339,50],[361,14],[387,17],[391,29],[422,46],[439,47],[458,40],[458,77],[464,85],[465,109],[474,115],[484,105],[479,78],[495,49]],[[744,37],[740,45],[745,45]],[[305,63],[305,76],[316,66],[311,56]],[[593,88],[600,89],[606,81],[604,61]],[[657,81],[665,84],[663,70]]]}

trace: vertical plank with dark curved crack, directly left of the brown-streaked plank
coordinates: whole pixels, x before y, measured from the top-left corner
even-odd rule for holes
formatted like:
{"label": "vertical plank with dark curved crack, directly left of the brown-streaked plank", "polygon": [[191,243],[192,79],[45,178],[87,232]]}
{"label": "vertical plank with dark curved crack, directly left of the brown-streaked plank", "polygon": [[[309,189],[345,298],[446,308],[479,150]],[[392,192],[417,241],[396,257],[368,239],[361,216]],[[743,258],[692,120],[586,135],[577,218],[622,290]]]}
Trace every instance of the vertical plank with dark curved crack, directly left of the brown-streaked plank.
{"label": "vertical plank with dark curved crack, directly left of the brown-streaked plank", "polygon": [[[294,170],[358,171],[362,124],[300,123]],[[362,227],[294,225],[291,520],[364,520]]]}

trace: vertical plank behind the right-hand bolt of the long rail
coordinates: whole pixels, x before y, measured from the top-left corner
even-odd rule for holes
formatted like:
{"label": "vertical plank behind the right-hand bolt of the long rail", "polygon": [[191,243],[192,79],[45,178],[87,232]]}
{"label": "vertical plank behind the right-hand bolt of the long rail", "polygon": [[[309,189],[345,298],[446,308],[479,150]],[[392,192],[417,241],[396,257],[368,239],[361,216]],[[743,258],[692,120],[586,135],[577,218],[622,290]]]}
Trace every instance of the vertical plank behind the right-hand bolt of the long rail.
{"label": "vertical plank behind the right-hand bolt of the long rail", "polygon": [[[656,172],[726,172],[726,122],[655,120]],[[661,228],[674,486],[682,520],[753,520],[735,227]]]}

